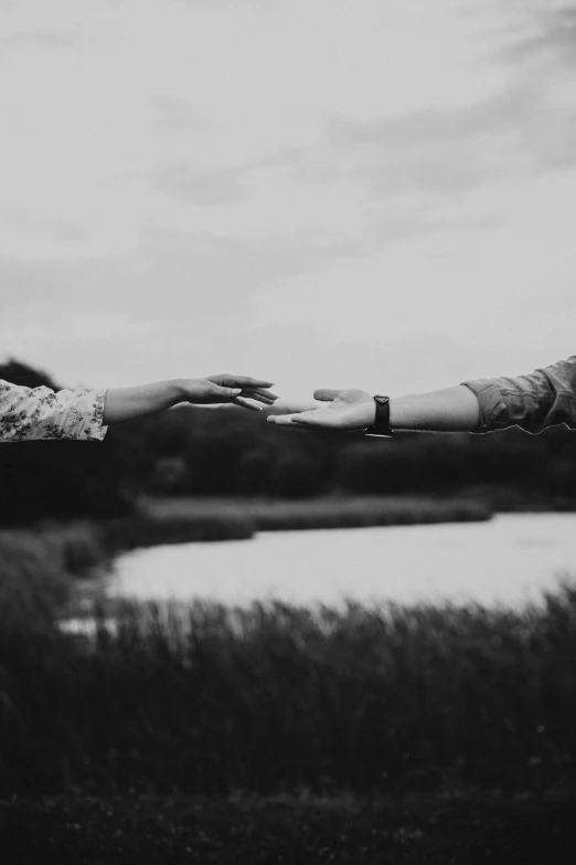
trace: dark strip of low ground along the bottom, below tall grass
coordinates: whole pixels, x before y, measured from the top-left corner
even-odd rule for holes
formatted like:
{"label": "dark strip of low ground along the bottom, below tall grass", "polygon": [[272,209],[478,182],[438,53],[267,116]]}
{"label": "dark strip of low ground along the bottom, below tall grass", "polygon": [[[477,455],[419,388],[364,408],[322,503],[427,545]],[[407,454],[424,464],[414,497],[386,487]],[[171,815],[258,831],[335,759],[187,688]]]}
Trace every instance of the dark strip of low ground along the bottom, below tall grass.
{"label": "dark strip of low ground along the bottom, below tall grass", "polygon": [[266,799],[154,795],[0,800],[10,865],[572,865],[576,797],[498,793]]}

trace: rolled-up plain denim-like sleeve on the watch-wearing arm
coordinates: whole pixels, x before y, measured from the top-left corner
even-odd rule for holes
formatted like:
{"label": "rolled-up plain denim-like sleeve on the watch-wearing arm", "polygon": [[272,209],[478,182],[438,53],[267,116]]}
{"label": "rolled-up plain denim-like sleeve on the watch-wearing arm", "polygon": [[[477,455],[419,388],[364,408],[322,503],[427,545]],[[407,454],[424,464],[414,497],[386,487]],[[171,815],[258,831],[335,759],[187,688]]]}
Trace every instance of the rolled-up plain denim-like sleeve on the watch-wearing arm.
{"label": "rolled-up plain denim-like sleeve on the watch-wearing arm", "polygon": [[540,433],[564,423],[576,429],[576,355],[527,376],[462,381],[478,398],[477,433],[520,426]]}

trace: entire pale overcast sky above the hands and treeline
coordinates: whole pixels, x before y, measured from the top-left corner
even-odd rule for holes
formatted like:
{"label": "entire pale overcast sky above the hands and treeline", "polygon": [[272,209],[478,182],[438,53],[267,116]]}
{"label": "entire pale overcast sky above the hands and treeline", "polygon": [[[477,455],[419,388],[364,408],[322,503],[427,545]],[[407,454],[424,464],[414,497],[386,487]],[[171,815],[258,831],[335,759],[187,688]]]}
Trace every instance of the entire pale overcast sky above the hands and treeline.
{"label": "entire pale overcast sky above the hands and treeline", "polygon": [[294,397],[576,354],[575,8],[0,0],[0,359]]}

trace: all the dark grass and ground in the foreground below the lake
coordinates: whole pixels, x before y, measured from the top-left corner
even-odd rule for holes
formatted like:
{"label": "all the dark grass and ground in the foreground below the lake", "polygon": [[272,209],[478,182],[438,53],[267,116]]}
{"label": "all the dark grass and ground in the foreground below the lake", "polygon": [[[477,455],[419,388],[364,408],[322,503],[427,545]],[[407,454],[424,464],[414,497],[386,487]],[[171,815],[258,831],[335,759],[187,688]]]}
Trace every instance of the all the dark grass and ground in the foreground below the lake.
{"label": "all the dark grass and ground in the foreground below the lake", "polygon": [[10,863],[570,861],[569,584],[516,612],[120,602],[88,637],[57,626],[62,556],[0,537]]}

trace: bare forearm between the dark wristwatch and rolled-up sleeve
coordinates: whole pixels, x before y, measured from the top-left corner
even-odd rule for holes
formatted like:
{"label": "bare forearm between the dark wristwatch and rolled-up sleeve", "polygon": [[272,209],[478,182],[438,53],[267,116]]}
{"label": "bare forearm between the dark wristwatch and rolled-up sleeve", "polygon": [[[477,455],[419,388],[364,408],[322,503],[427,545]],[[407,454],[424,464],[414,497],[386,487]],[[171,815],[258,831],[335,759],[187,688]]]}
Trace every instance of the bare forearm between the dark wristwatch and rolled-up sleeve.
{"label": "bare forearm between the dark wristwatch and rolled-up sleeve", "polygon": [[390,402],[393,430],[472,432],[479,422],[478,399],[461,384],[429,393],[396,397]]}

